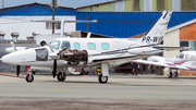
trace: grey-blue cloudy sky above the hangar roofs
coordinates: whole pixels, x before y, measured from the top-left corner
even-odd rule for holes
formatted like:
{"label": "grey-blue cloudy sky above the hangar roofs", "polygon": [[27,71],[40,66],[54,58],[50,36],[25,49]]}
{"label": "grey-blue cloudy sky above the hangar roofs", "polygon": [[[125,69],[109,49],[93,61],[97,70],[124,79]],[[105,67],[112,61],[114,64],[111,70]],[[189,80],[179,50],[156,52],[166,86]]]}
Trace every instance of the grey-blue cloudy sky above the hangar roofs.
{"label": "grey-blue cloudy sky above the hangar roofs", "polygon": [[[51,3],[51,1],[52,0],[4,0],[4,8],[34,3],[34,2],[49,4]],[[89,4],[102,3],[113,0],[57,0],[57,1],[61,7],[78,8],[78,7],[85,7]],[[2,0],[0,0],[0,8],[2,8]]]}

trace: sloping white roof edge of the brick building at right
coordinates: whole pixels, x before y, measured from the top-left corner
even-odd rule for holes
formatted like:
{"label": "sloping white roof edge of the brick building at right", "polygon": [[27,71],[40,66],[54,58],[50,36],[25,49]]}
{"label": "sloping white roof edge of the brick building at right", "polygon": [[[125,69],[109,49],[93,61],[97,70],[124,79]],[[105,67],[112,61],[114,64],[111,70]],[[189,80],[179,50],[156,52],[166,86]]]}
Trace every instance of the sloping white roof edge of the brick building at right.
{"label": "sloping white roof edge of the brick building at right", "polygon": [[187,26],[187,25],[193,24],[193,23],[196,23],[196,19],[192,20],[192,21],[188,21],[188,22],[185,22],[185,23],[182,23],[180,25],[173,26],[173,27],[169,28],[167,30],[167,33],[173,32],[175,29],[182,28],[182,27]]}

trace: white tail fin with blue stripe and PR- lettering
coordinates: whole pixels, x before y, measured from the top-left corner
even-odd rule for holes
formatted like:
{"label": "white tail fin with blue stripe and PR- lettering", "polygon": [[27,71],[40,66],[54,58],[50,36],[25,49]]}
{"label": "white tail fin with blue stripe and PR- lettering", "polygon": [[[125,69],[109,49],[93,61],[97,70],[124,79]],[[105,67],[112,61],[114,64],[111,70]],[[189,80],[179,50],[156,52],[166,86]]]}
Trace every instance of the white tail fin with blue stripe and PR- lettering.
{"label": "white tail fin with blue stripe and PR- lettering", "polygon": [[163,11],[161,16],[151,26],[151,28],[144,35],[140,40],[146,44],[160,44],[163,41],[164,34],[170,21],[172,12]]}

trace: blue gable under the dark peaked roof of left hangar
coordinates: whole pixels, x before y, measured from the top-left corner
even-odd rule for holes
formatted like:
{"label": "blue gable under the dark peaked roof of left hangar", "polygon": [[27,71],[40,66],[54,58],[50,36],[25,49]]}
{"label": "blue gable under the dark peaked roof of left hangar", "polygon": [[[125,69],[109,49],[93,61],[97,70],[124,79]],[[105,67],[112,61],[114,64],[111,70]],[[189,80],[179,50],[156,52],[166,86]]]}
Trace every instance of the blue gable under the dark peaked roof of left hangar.
{"label": "blue gable under the dark peaked roof of left hangar", "polygon": [[[75,15],[74,8],[58,7],[56,15]],[[44,16],[52,15],[52,9],[49,4],[44,3],[28,3],[16,7],[9,7],[0,9],[0,16]]]}

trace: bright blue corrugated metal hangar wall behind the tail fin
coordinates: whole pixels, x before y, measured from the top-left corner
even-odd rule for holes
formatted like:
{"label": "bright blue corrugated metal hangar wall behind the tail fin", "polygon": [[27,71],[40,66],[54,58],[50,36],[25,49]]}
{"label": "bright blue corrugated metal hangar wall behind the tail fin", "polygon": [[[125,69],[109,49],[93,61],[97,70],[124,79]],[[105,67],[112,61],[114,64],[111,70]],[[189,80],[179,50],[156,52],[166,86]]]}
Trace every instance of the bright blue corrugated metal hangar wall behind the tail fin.
{"label": "bright blue corrugated metal hangar wall behind the tail fin", "polygon": [[[77,20],[98,20],[89,23],[91,33],[126,38],[147,32],[161,12],[76,12]],[[173,12],[169,27],[196,19],[196,12]],[[87,30],[86,23],[77,23],[76,30]]]}

